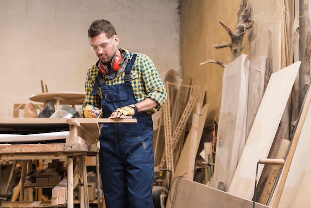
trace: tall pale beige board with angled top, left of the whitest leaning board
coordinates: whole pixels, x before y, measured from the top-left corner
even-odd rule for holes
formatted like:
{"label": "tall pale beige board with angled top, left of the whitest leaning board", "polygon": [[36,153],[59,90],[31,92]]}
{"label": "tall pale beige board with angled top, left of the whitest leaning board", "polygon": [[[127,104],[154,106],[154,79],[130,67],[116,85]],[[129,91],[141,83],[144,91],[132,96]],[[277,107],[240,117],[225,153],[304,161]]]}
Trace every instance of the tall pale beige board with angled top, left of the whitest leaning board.
{"label": "tall pale beige board with angled top, left of the whitest leaning board", "polygon": [[246,139],[248,56],[240,55],[224,70],[213,179],[227,191]]}

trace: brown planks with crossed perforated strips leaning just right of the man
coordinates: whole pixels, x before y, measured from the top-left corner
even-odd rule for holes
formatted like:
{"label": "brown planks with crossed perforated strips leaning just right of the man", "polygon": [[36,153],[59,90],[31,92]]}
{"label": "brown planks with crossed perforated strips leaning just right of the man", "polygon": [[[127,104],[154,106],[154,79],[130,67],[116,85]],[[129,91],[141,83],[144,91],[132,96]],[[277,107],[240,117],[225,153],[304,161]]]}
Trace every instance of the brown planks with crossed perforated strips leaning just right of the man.
{"label": "brown planks with crossed perforated strips leaning just right of the man", "polygon": [[171,70],[164,79],[168,101],[163,104],[155,132],[155,166],[169,169],[172,173],[184,145],[188,119],[198,98],[198,87],[192,86],[191,80],[175,83],[175,78],[176,74]]}

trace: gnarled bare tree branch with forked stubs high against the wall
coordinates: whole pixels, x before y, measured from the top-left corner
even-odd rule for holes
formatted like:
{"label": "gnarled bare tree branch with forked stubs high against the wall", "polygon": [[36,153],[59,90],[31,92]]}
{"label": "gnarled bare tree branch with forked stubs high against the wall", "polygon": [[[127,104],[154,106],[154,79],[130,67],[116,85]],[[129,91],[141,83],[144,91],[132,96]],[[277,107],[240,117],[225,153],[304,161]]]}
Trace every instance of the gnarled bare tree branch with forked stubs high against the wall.
{"label": "gnarled bare tree branch with forked stubs high against the wall", "polygon": [[[235,32],[233,32],[228,26],[226,26],[222,21],[219,23],[227,30],[230,38],[231,43],[222,43],[218,45],[213,45],[216,49],[229,47],[231,49],[231,58],[230,62],[236,59],[240,54],[242,49],[243,36],[246,33],[247,29],[251,28],[254,24],[254,21],[251,19],[251,5],[248,0],[242,0],[240,3],[240,8],[237,12],[237,26],[235,28]],[[222,67],[227,66],[224,62],[219,60],[208,60],[206,62],[200,63],[207,64],[207,63],[216,63]]]}

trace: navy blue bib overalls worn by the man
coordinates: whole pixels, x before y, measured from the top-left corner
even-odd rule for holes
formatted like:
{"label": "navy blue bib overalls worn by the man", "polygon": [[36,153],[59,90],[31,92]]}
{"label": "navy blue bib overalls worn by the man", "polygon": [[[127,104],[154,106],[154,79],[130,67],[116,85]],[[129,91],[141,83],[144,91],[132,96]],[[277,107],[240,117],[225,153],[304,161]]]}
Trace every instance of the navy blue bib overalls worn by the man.
{"label": "navy blue bib overalls worn by the man", "polygon": [[[118,107],[137,103],[130,83],[136,55],[125,68],[123,84],[107,86],[99,73],[104,118]],[[101,129],[99,164],[106,208],[154,208],[153,121],[146,112],[136,112],[133,118],[137,123],[105,123]]]}

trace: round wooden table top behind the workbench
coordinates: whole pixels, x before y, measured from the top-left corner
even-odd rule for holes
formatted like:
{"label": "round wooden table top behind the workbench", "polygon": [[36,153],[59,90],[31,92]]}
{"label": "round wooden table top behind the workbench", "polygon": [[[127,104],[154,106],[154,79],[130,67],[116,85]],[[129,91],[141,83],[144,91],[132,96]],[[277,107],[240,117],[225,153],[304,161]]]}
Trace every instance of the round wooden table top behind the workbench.
{"label": "round wooden table top behind the workbench", "polygon": [[82,104],[85,99],[85,93],[80,92],[48,92],[33,94],[29,97],[30,101],[47,103],[49,101],[56,102],[60,100],[60,104]]}

